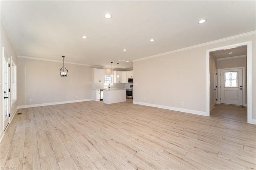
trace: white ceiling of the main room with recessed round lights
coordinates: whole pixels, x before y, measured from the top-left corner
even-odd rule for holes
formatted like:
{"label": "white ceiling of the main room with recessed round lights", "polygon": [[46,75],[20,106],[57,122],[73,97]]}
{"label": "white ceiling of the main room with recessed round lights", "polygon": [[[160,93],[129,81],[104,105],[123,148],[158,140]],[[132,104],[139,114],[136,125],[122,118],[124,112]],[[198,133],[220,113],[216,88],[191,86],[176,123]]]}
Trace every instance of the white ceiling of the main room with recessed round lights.
{"label": "white ceiling of the main room with recessed round lights", "polygon": [[255,6],[244,0],[1,1],[1,18],[18,55],[131,68],[135,59],[254,31]]}

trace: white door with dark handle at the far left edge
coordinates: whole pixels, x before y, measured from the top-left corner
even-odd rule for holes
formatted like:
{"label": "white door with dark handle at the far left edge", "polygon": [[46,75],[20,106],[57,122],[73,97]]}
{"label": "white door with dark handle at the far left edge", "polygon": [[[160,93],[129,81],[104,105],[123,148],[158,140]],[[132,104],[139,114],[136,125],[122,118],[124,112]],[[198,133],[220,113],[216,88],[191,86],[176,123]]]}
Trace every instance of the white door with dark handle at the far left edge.
{"label": "white door with dark handle at the far left edge", "polygon": [[3,93],[4,93],[4,130],[6,129],[7,125],[10,122],[9,119],[9,58],[4,53],[4,82],[3,82]]}

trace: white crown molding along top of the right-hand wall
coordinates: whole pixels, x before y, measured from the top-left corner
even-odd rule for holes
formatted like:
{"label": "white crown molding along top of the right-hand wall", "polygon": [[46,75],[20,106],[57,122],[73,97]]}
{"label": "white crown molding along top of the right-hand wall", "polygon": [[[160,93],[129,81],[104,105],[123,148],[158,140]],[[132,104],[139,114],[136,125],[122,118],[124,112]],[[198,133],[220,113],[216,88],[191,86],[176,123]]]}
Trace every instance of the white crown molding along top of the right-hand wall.
{"label": "white crown molding along top of the right-hand wall", "polygon": [[[173,50],[173,51],[168,51],[166,53],[160,53],[160,54],[157,54],[157,55],[151,55],[151,56],[148,56],[148,57],[144,57],[144,58],[140,58],[140,59],[135,59],[135,60],[132,60],[132,61],[136,62],[136,61],[141,61],[141,60],[145,60],[145,59],[149,59],[149,58],[160,57],[162,55],[167,55],[167,54],[170,54],[170,53],[176,53],[176,52],[179,52],[179,51],[185,51],[185,50],[188,50],[188,49],[198,48],[198,47],[202,47],[202,46],[206,46],[206,45],[210,45],[210,44],[214,44],[214,43],[225,42],[225,41],[228,41],[228,40],[233,40],[233,39],[236,39],[236,38],[250,36],[250,35],[253,35],[253,34],[256,34],[256,31],[247,32],[247,33],[244,33],[244,34],[239,34],[239,35],[231,36],[231,37],[228,37],[228,38],[222,38],[222,39],[219,39],[219,40],[214,40],[212,42],[201,43],[201,44],[193,45],[193,46],[190,46],[190,47],[180,48],[180,49],[176,49],[176,50]],[[214,50],[214,51],[216,51],[216,50]]]}

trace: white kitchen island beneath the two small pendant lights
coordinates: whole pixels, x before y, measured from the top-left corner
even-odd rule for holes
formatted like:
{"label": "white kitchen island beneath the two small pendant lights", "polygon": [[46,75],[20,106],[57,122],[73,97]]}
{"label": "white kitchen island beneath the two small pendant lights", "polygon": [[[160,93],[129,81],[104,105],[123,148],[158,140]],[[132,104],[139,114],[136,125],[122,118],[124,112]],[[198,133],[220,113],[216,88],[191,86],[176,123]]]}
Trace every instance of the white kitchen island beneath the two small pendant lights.
{"label": "white kitchen island beneath the two small pendant lights", "polygon": [[126,89],[104,89],[103,102],[106,104],[126,101]]}

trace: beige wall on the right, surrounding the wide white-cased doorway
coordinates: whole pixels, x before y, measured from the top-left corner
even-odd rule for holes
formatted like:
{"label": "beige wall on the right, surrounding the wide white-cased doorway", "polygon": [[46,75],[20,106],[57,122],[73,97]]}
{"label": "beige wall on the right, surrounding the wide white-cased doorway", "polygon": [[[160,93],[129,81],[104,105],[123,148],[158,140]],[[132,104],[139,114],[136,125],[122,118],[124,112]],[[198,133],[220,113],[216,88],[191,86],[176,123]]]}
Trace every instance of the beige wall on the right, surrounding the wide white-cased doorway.
{"label": "beige wall on the right, surrounding the wide white-cased doorway", "polygon": [[206,115],[206,50],[248,41],[252,41],[252,103],[256,103],[255,37],[254,33],[227,38],[134,61],[134,103]]}

